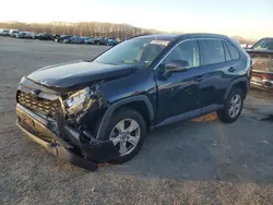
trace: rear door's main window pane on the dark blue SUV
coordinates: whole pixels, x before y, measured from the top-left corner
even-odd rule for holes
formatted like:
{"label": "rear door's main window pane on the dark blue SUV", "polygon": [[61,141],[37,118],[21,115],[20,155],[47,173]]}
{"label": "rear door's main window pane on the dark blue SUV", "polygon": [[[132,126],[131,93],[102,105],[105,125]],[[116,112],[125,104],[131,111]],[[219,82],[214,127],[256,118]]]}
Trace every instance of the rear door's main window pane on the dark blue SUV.
{"label": "rear door's main window pane on the dark blue SUV", "polygon": [[201,64],[214,64],[225,62],[225,52],[222,40],[200,40]]}

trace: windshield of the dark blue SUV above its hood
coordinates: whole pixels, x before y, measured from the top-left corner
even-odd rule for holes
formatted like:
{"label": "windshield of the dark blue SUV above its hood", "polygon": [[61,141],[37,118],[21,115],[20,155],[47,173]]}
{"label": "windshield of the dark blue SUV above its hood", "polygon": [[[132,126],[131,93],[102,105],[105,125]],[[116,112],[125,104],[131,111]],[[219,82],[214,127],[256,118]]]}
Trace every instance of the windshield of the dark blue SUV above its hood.
{"label": "windshield of the dark blue SUV above its hood", "polygon": [[147,65],[166,48],[168,43],[151,38],[133,38],[115,46],[94,62]]}

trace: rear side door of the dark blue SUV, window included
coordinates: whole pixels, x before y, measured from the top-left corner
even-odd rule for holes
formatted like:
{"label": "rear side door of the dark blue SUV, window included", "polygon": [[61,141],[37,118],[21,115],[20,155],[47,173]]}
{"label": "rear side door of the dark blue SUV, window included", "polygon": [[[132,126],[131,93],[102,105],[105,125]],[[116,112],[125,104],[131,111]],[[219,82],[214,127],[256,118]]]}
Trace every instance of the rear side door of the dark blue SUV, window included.
{"label": "rear side door of the dark blue SUV, window included", "polygon": [[236,62],[232,59],[225,41],[221,39],[199,40],[201,68],[198,77],[202,113],[218,109],[224,105],[224,96],[236,72]]}

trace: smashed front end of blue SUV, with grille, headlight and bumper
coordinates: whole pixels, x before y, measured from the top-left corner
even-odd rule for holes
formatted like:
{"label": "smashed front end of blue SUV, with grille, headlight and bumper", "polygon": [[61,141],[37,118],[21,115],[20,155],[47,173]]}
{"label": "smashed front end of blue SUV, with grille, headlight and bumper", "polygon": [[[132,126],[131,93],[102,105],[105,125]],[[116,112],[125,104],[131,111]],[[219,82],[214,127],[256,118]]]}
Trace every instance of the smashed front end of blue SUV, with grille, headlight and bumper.
{"label": "smashed front end of blue SUV, with grille, headlight and bumper", "polygon": [[111,141],[96,137],[108,107],[97,85],[58,94],[24,77],[16,98],[16,124],[49,153],[88,170],[118,155]]}

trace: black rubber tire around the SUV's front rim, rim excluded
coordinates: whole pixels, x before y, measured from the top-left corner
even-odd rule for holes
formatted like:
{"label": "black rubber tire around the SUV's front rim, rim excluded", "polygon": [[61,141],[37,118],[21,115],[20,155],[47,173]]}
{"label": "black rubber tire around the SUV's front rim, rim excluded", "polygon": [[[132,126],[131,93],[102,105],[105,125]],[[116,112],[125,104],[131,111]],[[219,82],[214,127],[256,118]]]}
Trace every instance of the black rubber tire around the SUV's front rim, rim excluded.
{"label": "black rubber tire around the SUV's front rim, rim excluded", "polygon": [[[136,144],[136,146],[127,155],[124,156],[118,156],[118,157],[112,157],[109,162],[112,164],[122,164],[126,162],[128,160],[130,160],[131,158],[133,158],[141,149],[143,142],[144,142],[144,137],[146,135],[146,123],[143,119],[143,117],[135,110],[129,109],[129,108],[123,108],[118,110],[114,117],[110,119],[109,124],[106,129],[106,134],[105,134],[105,138],[99,138],[99,140],[105,140],[108,141],[110,138],[110,134],[114,130],[114,128],[116,126],[116,124],[124,119],[132,119],[135,122],[138,122],[139,128],[140,128],[140,138],[139,142]],[[119,144],[116,145],[116,147],[118,148]]]}

